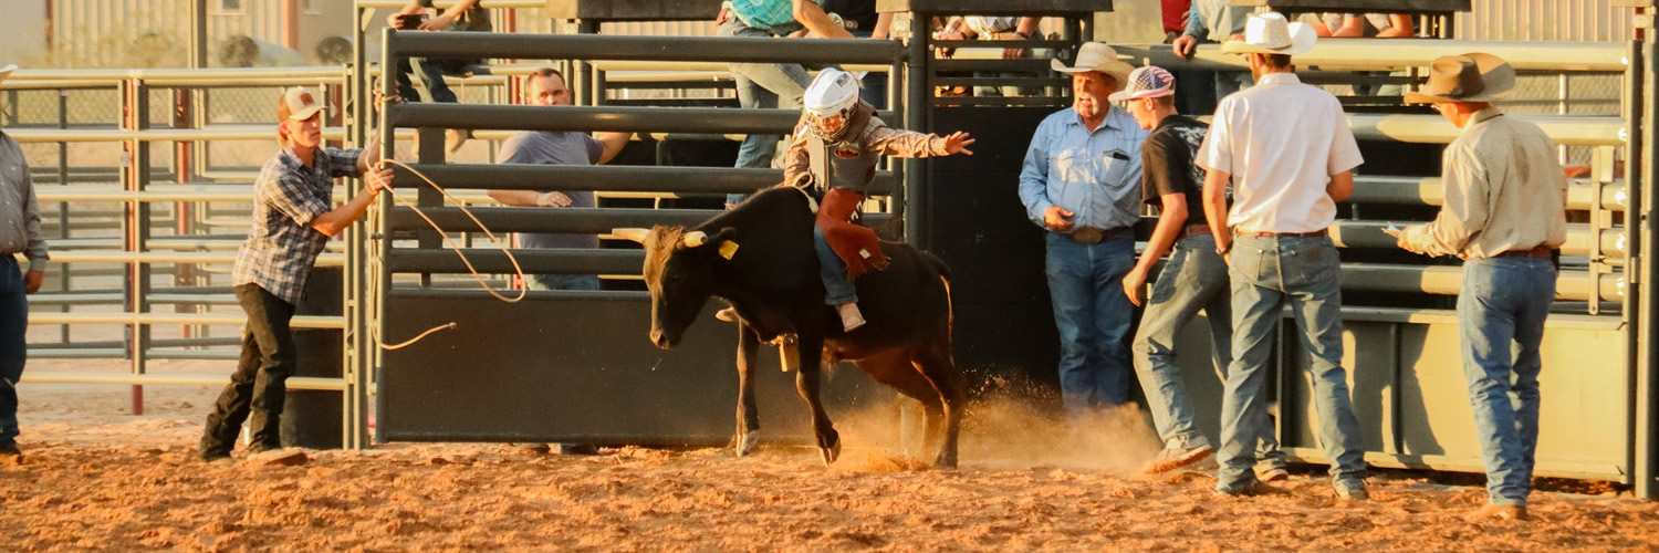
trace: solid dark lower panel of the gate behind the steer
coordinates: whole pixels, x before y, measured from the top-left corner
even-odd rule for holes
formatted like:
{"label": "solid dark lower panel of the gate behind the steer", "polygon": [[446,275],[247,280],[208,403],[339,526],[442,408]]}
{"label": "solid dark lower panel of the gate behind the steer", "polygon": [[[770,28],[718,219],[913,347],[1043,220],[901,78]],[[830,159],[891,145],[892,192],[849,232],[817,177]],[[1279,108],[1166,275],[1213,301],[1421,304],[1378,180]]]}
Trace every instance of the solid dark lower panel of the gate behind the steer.
{"label": "solid dark lower panel of the gate behind the steer", "polygon": [[[445,322],[415,345],[385,354],[378,438],[392,442],[586,442],[722,445],[735,428],[737,327],[713,306],[682,345],[647,340],[644,294],[566,292],[518,304],[478,297],[387,299],[385,342]],[[761,437],[806,442],[806,404],[795,374],[761,349],[757,370]],[[879,389],[879,390],[878,390]],[[826,375],[831,415],[886,404],[863,372]]]}

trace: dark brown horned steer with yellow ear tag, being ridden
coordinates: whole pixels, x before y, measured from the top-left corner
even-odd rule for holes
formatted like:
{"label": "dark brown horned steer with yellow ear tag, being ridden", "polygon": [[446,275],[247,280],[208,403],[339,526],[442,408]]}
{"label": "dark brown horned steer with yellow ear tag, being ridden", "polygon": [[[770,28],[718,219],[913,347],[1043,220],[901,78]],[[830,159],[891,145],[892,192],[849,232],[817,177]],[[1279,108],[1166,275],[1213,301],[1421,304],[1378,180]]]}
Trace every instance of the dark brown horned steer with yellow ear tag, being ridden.
{"label": "dark brown horned steer with yellow ear tag, being ridden", "polygon": [[[876,382],[914,397],[927,410],[934,467],[956,467],[966,382],[951,357],[951,277],[939,257],[907,244],[883,242],[884,271],[858,279],[866,324],[841,330],[813,252],[813,201],[798,188],[761,191],[702,226],[615,229],[645,244],[650,340],[674,347],[710,296],[738,314],[737,453],[755,443],[755,369],[760,344],[793,340],[800,357],[795,385],[813,412],[825,465],[841,455],[841,437],[818,397],[823,364],[851,360]],[[790,345],[785,345],[790,347]]]}

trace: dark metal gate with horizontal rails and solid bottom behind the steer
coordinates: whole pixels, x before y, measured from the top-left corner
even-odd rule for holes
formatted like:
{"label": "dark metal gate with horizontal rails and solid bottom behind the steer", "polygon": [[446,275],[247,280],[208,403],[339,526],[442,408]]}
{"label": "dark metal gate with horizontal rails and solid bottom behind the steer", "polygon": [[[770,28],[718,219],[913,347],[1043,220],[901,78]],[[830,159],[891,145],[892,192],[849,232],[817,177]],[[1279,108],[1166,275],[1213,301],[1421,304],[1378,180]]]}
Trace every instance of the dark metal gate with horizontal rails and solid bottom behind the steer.
{"label": "dark metal gate with horizontal rails and solid bottom behind the steer", "polygon": [[[597,35],[400,33],[388,30],[382,66],[405,56],[554,58],[624,61],[795,61],[854,63],[901,68],[896,42],[873,40],[753,40],[654,38]],[[899,81],[902,71],[893,71]],[[392,95],[392,80],[383,80]],[[902,90],[899,83],[894,90]],[[902,111],[884,113],[901,120]],[[788,135],[796,113],[785,110],[655,108],[655,106],[476,106],[388,105],[380,135],[415,128],[421,141],[416,171],[450,189],[634,191],[674,196],[748,193],[781,181],[776,169],[458,164],[443,159],[443,131],[544,130],[635,131],[675,136],[728,133]],[[385,154],[392,156],[387,144]],[[878,194],[896,191],[901,173],[883,171]],[[446,232],[473,232],[456,208],[418,178],[398,169],[397,188],[418,198],[420,209]],[[893,198],[902,209],[902,196]],[[479,221],[496,232],[582,232],[604,236],[612,228],[695,224],[712,209],[542,209],[478,208]],[[725,443],[737,404],[737,332],[705,321],[675,350],[657,350],[645,339],[649,297],[639,291],[529,292],[508,304],[476,286],[446,286],[445,276],[465,274],[461,259],[441,246],[410,208],[383,198],[373,234],[348,266],[360,274],[365,311],[348,316],[353,350],[377,350],[373,337],[397,342],[433,325],[456,329],[406,349],[362,355],[378,369],[378,440],[516,440],[589,443]],[[889,216],[873,216],[884,221]],[[352,241],[357,244],[355,241]],[[611,242],[609,246],[617,246]],[[506,256],[493,247],[466,247],[486,274],[511,274]],[[524,272],[637,276],[639,249],[516,249]],[[378,357],[378,359],[370,359]],[[771,362],[771,367],[776,362]],[[760,400],[768,435],[808,435],[793,375],[760,370]],[[884,397],[856,370],[828,382],[833,404],[863,407]]]}

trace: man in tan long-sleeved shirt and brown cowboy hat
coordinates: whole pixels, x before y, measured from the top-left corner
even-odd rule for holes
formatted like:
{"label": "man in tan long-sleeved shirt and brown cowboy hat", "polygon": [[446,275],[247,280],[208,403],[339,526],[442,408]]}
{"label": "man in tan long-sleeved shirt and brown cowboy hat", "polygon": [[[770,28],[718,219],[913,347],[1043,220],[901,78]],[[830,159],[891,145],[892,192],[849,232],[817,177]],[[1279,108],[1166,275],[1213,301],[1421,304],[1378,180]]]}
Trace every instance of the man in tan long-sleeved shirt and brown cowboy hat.
{"label": "man in tan long-sleeved shirt and brown cowboy hat", "polygon": [[[1515,88],[1498,56],[1440,56],[1422,93],[1463,133],[1447,146],[1445,204],[1433,223],[1390,232],[1399,246],[1463,257],[1463,375],[1486,462],[1490,505],[1475,516],[1525,518],[1538,445],[1538,345],[1554,299],[1553,252],[1566,242],[1566,176],[1536,125],[1491,106]],[[1511,354],[1511,342],[1520,352]],[[1513,362],[1511,362],[1513,359]]]}

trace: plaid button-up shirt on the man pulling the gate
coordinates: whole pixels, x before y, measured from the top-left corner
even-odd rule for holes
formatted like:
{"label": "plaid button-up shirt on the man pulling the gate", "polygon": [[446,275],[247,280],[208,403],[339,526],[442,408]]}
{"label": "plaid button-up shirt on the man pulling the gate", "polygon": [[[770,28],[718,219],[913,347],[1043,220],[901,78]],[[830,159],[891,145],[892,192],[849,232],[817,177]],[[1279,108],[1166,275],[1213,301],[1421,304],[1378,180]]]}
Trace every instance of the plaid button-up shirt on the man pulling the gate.
{"label": "plaid button-up shirt on the man pulling the gate", "polygon": [[312,166],[284,149],[259,169],[254,181],[254,226],[236,254],[231,284],[259,284],[289,304],[299,304],[305,277],[328,244],[310,228],[333,208],[333,179],[358,176],[362,149],[317,148]]}

